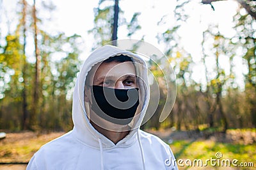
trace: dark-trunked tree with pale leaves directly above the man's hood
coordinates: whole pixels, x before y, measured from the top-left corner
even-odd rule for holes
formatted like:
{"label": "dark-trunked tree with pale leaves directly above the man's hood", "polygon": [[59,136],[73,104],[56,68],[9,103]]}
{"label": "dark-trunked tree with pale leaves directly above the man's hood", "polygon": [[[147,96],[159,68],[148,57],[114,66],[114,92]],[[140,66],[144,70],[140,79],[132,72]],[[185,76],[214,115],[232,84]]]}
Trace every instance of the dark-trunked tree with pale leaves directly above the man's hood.
{"label": "dark-trunked tree with pale leaves directly above the man's hood", "polygon": [[124,12],[122,11],[122,7],[119,6],[118,0],[112,0],[110,2],[113,4],[109,4],[109,1],[106,0],[100,0],[98,7],[94,9],[94,27],[88,31],[93,34],[95,38],[93,49],[99,45],[104,45],[110,41],[117,40],[118,27],[120,26],[127,26],[127,36],[130,37],[141,28],[138,24],[140,13],[134,13],[131,21],[127,22],[123,16]]}

